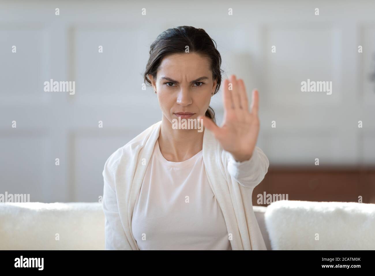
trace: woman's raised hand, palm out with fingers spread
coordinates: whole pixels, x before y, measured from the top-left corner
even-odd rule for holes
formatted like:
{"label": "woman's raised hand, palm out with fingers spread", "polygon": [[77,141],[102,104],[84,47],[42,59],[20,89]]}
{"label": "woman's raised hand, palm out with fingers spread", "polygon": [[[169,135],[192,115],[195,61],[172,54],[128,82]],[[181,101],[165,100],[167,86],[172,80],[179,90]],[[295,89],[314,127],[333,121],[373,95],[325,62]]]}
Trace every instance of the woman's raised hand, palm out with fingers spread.
{"label": "woman's raised hand, palm out with fingers spread", "polygon": [[[232,90],[229,90],[229,84]],[[210,118],[200,116],[203,125],[212,131],[215,138],[236,161],[249,160],[257,144],[260,122],[258,118],[258,90],[253,90],[251,111],[248,108],[248,97],[242,79],[231,75],[230,81],[223,83],[224,121],[218,127]]]}

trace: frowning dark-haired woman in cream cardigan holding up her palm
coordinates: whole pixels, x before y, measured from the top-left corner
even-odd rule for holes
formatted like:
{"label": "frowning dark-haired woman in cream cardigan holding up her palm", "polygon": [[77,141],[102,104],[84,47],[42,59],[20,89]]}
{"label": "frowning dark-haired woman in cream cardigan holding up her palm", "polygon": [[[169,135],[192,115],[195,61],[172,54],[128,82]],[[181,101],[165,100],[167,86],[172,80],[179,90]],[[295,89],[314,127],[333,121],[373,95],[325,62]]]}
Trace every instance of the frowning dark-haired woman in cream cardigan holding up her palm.
{"label": "frowning dark-haired woman in cream cardigan holding up her palm", "polygon": [[[209,104],[220,65],[203,29],[168,29],[151,44],[144,80],[162,120],[105,163],[106,249],[266,250],[251,201],[269,166],[255,146],[258,92],[249,110],[243,80],[224,80],[218,127]],[[203,131],[173,127],[178,119],[202,119]]]}

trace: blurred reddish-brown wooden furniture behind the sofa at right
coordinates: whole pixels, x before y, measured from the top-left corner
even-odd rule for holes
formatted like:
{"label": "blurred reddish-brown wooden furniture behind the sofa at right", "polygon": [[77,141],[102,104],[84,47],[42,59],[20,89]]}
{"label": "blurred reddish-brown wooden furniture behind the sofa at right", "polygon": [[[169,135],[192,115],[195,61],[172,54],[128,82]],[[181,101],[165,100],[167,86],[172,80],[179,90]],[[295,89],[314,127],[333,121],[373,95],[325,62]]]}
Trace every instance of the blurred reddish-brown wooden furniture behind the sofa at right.
{"label": "blurred reddish-brown wooden furniture behind the sofa at right", "polygon": [[288,194],[288,200],[375,203],[375,167],[281,167],[270,166],[263,181],[254,188],[258,195]]}

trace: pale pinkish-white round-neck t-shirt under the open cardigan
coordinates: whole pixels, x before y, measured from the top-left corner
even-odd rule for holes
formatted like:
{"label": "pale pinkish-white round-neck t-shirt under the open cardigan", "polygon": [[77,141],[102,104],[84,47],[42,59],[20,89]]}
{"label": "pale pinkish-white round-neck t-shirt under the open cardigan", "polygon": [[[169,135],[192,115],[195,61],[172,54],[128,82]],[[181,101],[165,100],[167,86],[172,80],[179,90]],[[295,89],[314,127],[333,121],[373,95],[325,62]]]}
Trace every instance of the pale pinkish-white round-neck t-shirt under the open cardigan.
{"label": "pale pinkish-white round-neck t-shirt under the open cardigan", "polygon": [[171,162],[156,140],[132,216],[140,250],[232,250],[202,154]]}

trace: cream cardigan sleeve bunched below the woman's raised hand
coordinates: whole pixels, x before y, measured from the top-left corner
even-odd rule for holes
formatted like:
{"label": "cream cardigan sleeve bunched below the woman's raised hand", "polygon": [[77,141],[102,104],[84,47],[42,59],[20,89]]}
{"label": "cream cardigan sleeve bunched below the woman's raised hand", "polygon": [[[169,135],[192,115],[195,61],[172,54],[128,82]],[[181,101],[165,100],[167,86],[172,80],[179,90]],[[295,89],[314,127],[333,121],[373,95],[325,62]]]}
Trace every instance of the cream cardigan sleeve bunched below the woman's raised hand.
{"label": "cream cardigan sleeve bunched below the woman's raised hand", "polygon": [[269,160],[264,152],[257,146],[249,160],[238,162],[228,152],[228,172],[242,186],[257,186],[266,175]]}

